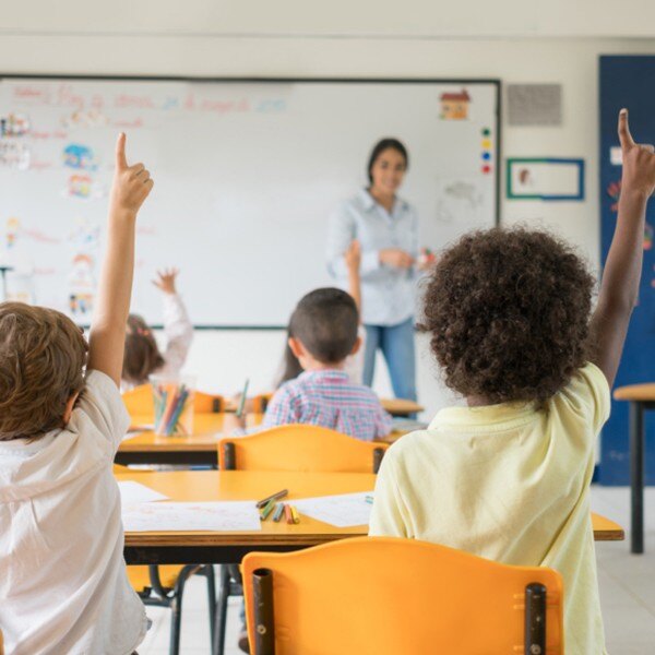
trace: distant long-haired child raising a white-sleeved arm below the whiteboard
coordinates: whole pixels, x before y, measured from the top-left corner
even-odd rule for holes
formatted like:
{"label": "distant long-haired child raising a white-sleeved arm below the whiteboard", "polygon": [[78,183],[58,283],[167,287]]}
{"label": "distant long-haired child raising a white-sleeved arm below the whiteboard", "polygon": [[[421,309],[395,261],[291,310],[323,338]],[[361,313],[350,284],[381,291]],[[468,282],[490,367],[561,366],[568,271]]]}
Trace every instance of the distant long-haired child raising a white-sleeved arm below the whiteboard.
{"label": "distant long-haired child raising a white-sleeved arm below the whiteboard", "polygon": [[176,289],[177,269],[157,272],[153,284],[163,291],[166,349],[159,352],[152,329],[138,314],[128,317],[121,388],[145,384],[152,374],[176,377],[187,361],[193,341],[193,325]]}

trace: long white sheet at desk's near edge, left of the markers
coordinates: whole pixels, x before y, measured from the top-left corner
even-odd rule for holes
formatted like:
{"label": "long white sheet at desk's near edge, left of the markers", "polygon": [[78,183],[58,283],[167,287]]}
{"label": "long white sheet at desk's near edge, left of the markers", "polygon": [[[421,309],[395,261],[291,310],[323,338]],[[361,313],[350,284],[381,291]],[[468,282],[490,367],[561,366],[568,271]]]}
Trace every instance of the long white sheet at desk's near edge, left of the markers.
{"label": "long white sheet at desk's near edge, left of the markers", "polygon": [[157,502],[123,508],[126,532],[240,532],[261,529],[257,501]]}

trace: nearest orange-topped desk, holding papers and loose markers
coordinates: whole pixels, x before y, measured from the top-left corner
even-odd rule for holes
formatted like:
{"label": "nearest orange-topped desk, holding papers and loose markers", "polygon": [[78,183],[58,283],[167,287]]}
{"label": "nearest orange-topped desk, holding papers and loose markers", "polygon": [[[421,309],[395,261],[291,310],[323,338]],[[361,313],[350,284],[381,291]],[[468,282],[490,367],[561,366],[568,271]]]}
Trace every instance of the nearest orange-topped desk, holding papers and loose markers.
{"label": "nearest orange-topped desk, holding papers and loose markers", "polygon": [[[258,500],[279,489],[288,500],[332,493],[371,491],[376,476],[369,473],[277,473],[242,471],[175,471],[117,474],[118,480],[139,481],[171,500]],[[620,540],[622,528],[603,516],[592,515],[597,540]],[[262,522],[260,532],[127,533],[128,564],[237,563],[258,549],[289,551],[365,536],[368,526],[334,527],[302,515],[298,525]]]}

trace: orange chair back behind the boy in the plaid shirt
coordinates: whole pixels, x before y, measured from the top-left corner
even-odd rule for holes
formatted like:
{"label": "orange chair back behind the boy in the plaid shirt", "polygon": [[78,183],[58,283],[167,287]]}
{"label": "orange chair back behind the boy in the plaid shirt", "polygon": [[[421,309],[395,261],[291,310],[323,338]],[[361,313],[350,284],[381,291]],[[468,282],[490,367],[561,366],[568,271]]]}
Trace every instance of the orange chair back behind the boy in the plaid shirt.
{"label": "orange chair back behind the boy in the plaid shirt", "polygon": [[289,425],[218,442],[224,471],[377,473],[386,443],[360,441],[318,426]]}

